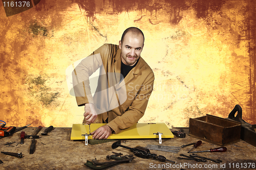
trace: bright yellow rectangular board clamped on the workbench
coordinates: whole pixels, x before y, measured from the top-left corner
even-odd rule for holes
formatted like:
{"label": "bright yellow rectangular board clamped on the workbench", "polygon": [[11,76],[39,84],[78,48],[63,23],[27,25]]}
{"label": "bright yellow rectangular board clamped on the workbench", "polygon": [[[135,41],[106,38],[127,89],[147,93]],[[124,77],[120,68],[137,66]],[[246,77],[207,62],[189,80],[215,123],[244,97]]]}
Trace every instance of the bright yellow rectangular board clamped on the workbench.
{"label": "bright yellow rectangular board clamped on the workbench", "polygon": [[[106,124],[91,124],[91,132]],[[130,128],[121,131],[118,134],[111,134],[108,139],[142,139],[142,138],[158,138],[153,133],[162,133],[162,138],[173,138],[173,133],[168,129],[165,123],[147,124],[137,123]],[[89,125],[73,124],[71,132],[71,140],[85,139],[82,134],[89,134]],[[92,135],[88,136],[92,139]]]}

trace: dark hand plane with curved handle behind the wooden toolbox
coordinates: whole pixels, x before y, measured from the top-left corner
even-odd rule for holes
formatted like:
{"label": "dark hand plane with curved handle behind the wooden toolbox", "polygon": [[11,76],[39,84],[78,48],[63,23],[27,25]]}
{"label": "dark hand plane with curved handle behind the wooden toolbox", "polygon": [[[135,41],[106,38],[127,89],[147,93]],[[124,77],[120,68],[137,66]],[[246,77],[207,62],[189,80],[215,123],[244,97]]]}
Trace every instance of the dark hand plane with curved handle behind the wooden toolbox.
{"label": "dark hand plane with curved handle behind the wooden toolbox", "polygon": [[[237,113],[237,116],[234,115]],[[252,144],[254,147],[256,147],[256,132],[255,128],[256,125],[250,125],[245,120],[242,119],[242,108],[239,105],[236,105],[233,110],[229,113],[228,118],[234,120],[236,122],[241,123],[241,135],[240,138],[250,144]]]}

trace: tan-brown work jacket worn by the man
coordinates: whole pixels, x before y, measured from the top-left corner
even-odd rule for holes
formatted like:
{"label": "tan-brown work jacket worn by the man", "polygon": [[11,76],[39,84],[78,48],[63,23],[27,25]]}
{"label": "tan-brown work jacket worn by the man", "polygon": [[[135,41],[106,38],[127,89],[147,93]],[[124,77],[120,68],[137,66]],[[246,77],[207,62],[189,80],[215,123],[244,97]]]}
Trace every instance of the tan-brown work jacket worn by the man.
{"label": "tan-brown work jacket worn by the man", "polygon": [[[121,50],[118,45],[104,44],[91,55],[83,59],[73,71],[77,104],[83,106],[94,103],[101,107],[108,103],[99,109],[101,112],[98,112],[94,123],[104,123],[108,118],[107,125],[119,133],[137,123],[144,115],[153,90],[154,73],[140,57],[137,65],[120,81]],[[98,68],[100,75],[104,76],[99,77],[96,93],[92,97],[88,80]],[[106,89],[108,92],[100,93]]]}

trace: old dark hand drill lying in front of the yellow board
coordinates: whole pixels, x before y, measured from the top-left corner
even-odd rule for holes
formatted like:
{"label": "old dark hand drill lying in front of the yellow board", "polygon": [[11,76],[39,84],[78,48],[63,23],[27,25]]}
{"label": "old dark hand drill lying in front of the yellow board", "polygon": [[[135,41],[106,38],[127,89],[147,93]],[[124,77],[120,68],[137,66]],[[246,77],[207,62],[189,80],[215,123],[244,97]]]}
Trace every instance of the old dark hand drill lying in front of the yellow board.
{"label": "old dark hand drill lying in front of the yellow board", "polygon": [[147,148],[143,148],[143,147],[130,148],[130,147],[126,147],[124,145],[121,145],[121,140],[118,140],[118,141],[116,141],[112,144],[112,149],[116,149],[118,147],[129,149],[131,152],[134,153],[135,156],[140,157],[140,158],[146,158],[146,159],[147,158],[153,158],[153,159],[158,159],[161,162],[169,161],[169,162],[176,163],[175,161],[166,159],[162,155],[157,156],[156,154],[152,154],[150,152],[150,150],[148,150]]}

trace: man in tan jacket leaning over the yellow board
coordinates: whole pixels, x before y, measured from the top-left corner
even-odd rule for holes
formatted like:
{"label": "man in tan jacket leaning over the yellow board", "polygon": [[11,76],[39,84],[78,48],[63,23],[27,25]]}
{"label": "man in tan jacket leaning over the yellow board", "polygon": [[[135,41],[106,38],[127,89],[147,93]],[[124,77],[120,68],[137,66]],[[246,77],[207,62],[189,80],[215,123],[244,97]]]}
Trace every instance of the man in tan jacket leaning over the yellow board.
{"label": "man in tan jacket leaning over the yellow board", "polygon": [[[124,31],[119,45],[102,45],[75,68],[74,91],[78,106],[84,105],[83,123],[108,123],[91,133],[93,139],[119,133],[144,115],[155,78],[140,57],[143,46],[142,31],[131,27]],[[100,76],[92,98],[88,80],[98,68]]]}

